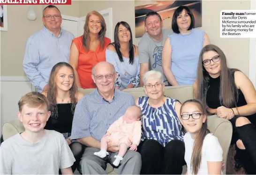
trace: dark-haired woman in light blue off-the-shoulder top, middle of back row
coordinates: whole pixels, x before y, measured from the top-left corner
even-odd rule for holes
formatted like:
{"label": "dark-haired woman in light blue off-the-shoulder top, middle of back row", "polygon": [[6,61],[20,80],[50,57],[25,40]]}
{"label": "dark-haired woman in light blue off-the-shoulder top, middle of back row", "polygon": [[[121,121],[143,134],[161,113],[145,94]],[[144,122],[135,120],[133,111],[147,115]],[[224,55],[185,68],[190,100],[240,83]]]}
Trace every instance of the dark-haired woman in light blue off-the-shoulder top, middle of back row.
{"label": "dark-haired woman in light blue off-the-shoulder top, middle of back row", "polygon": [[127,22],[118,22],[114,31],[114,43],[106,48],[106,61],[113,64],[118,74],[116,89],[139,87],[140,62],[138,47],[132,42],[132,31]]}

